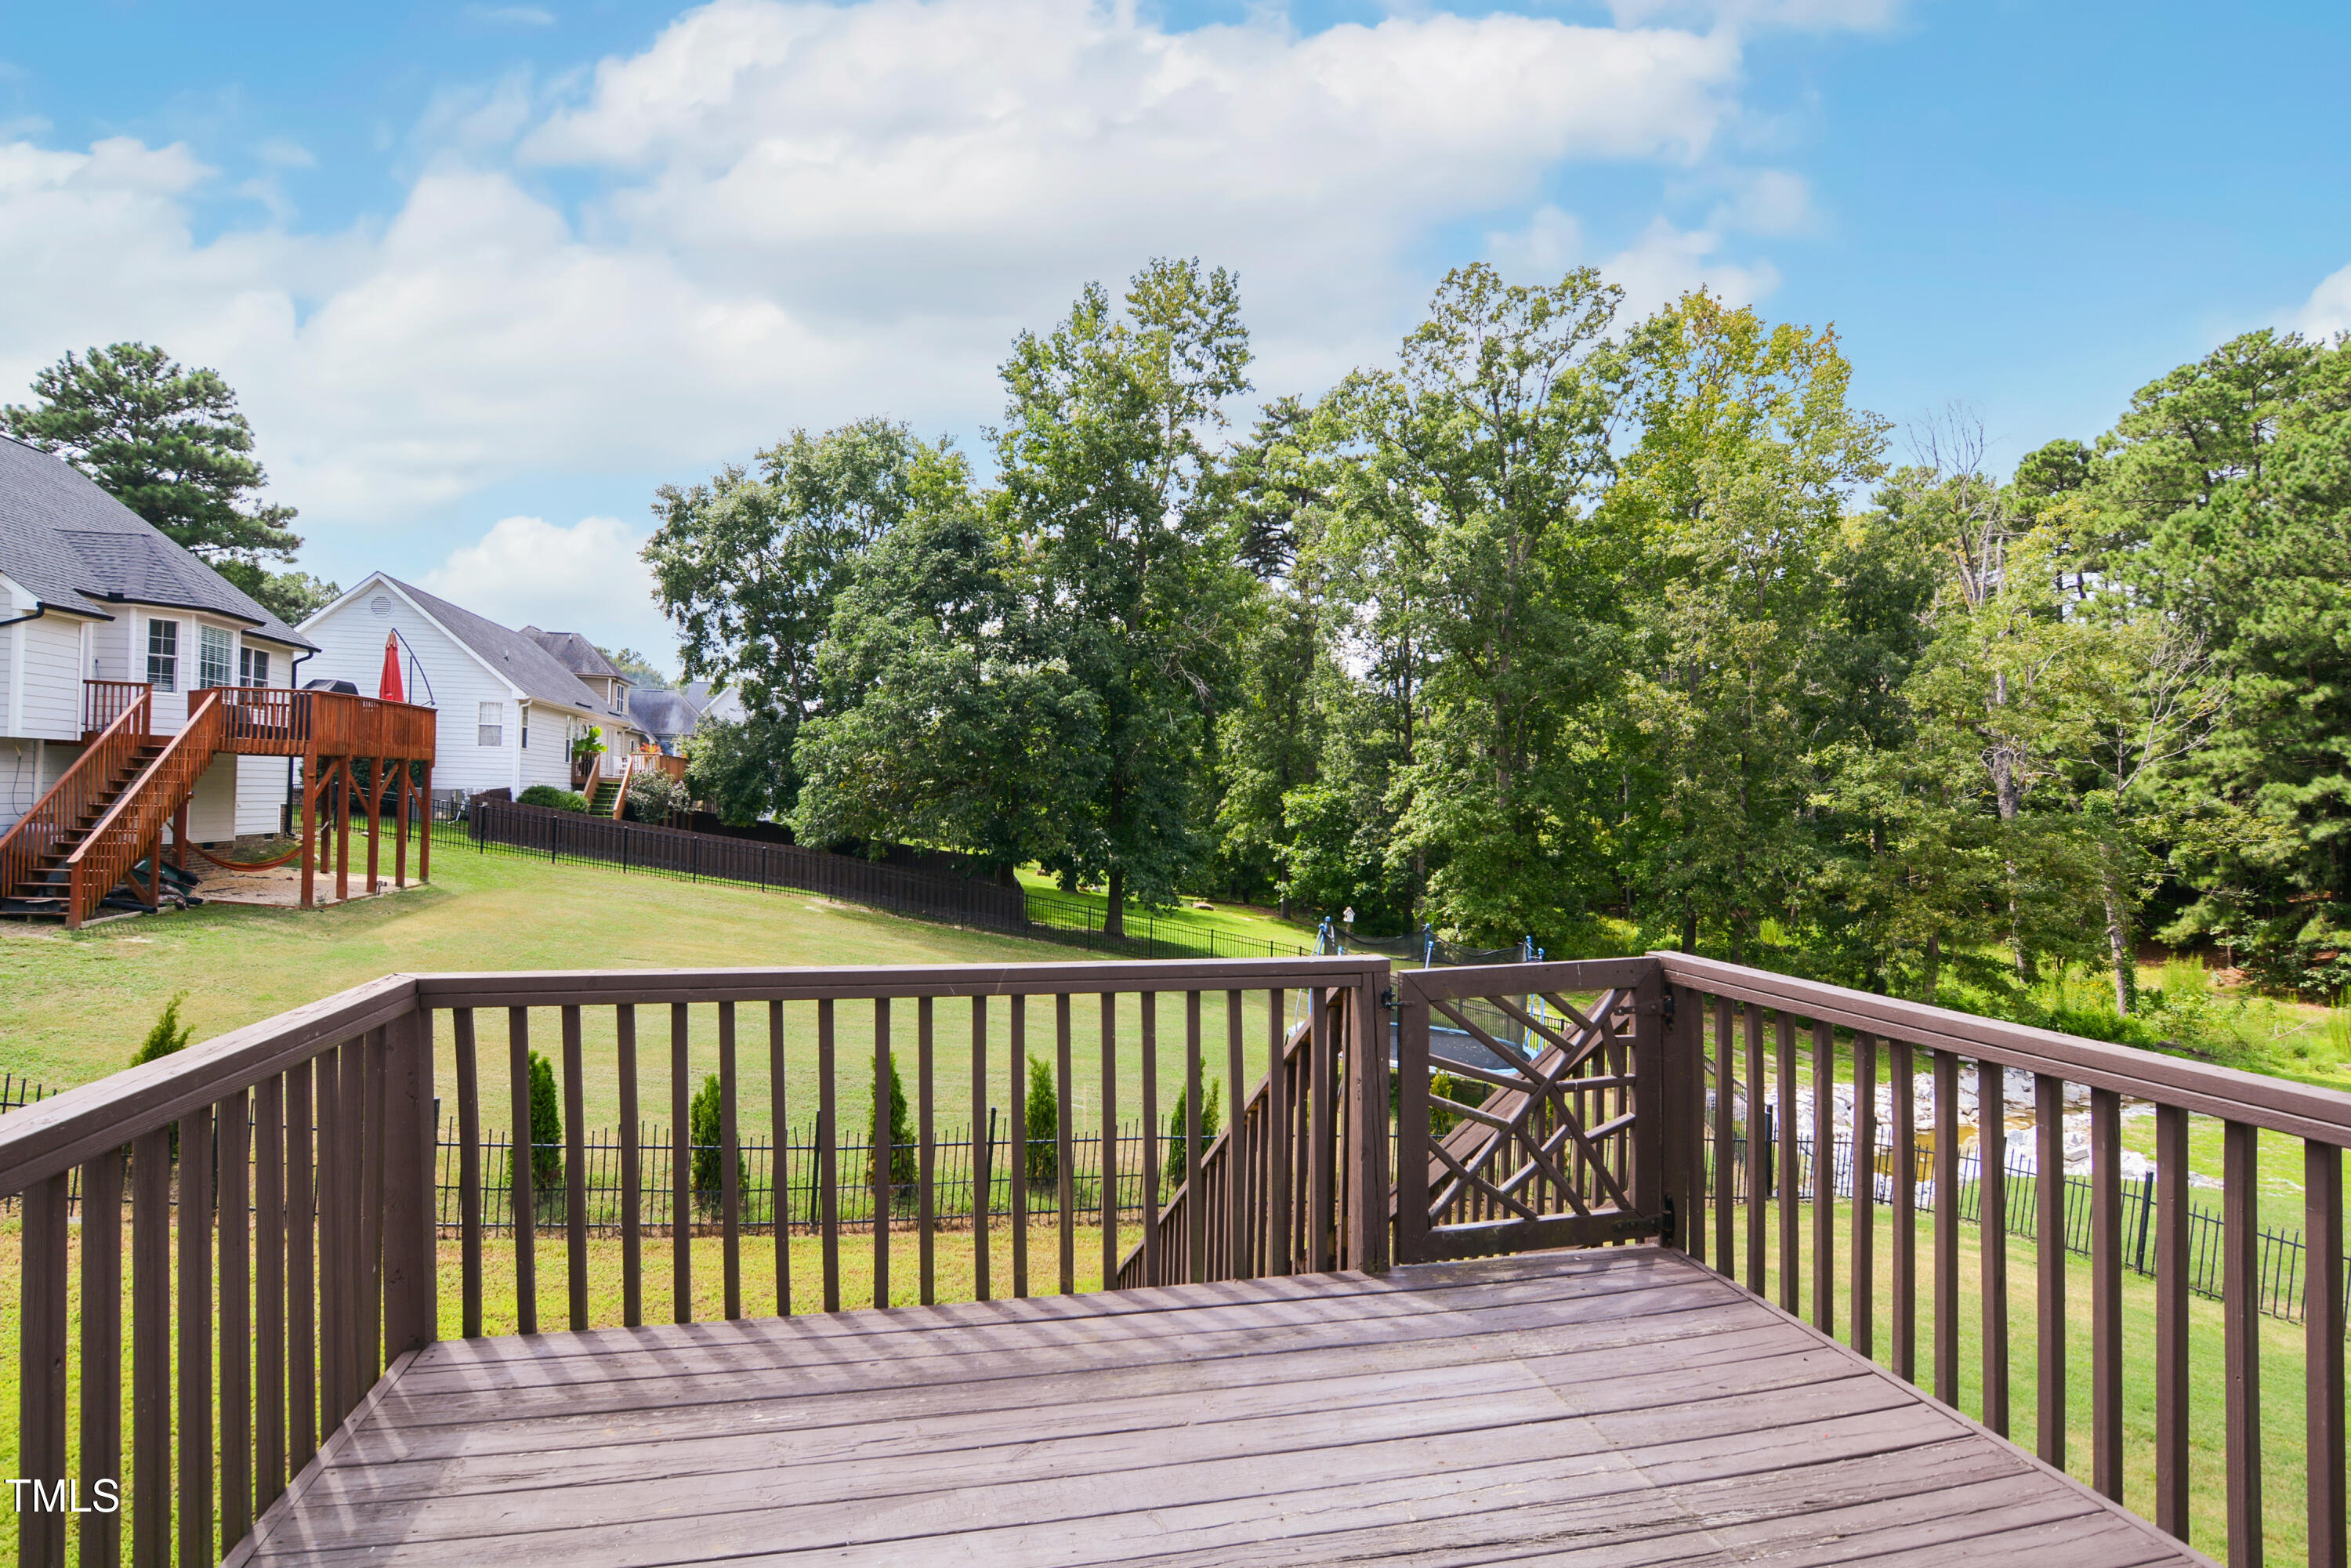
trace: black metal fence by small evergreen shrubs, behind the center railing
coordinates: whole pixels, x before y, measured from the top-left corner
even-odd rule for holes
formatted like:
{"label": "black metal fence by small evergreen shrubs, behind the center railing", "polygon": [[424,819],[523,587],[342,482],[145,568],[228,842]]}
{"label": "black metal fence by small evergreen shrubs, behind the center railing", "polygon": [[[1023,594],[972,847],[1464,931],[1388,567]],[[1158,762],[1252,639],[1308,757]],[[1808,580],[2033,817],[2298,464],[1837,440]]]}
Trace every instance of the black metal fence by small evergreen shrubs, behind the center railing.
{"label": "black metal fence by small evergreen shrubs, behind the center railing", "polygon": [[[618,1237],[625,1187],[621,1182],[621,1154],[625,1135],[618,1128],[597,1128],[581,1138],[583,1185],[588,1197],[588,1234]],[[1201,1138],[1206,1150],[1208,1138]],[[503,1133],[482,1135],[482,1229],[513,1234],[515,1229],[515,1175],[513,1140]],[[1164,1204],[1176,1182],[1168,1175],[1171,1152],[1183,1147],[1183,1138],[1161,1131],[1150,1135],[1140,1124],[1126,1124],[1117,1133],[1112,1201],[1121,1220],[1140,1220],[1147,1204],[1145,1171],[1159,1171],[1159,1201]],[[1006,1220],[1013,1211],[1013,1145],[1004,1121],[992,1119],[978,1138],[969,1126],[943,1128],[931,1145],[931,1213],[936,1225],[969,1225],[976,1199],[985,1190],[987,1215]],[[456,1124],[442,1124],[435,1182],[440,1187],[440,1225],[447,1234],[458,1227],[458,1173],[465,1143]],[[790,1232],[813,1232],[823,1218],[820,1182],[823,1147],[816,1128],[799,1128],[776,1145],[766,1138],[748,1138],[738,1150],[736,1190],[741,1201],[741,1225],[752,1232],[773,1234],[778,1213]],[[835,1145],[835,1213],[839,1229],[872,1232],[877,1213],[875,1152],[868,1140]],[[567,1220],[567,1150],[562,1143],[534,1145],[531,1206],[536,1225],[545,1227]],[[717,1145],[686,1147],[686,1222],[717,1225],[719,1194],[724,1182],[724,1154]],[[1030,1138],[1025,1157],[1027,1213],[1051,1215],[1060,1211],[1060,1150],[1056,1138]],[[637,1131],[637,1204],[639,1222],[647,1229],[668,1229],[677,1222],[677,1145],[663,1126],[647,1124]],[[912,1220],[922,1206],[919,1152],[912,1143],[891,1150],[891,1199],[893,1220]],[[1079,1133],[1070,1145],[1072,1211],[1079,1222],[1100,1220],[1103,1213],[1103,1135]]]}

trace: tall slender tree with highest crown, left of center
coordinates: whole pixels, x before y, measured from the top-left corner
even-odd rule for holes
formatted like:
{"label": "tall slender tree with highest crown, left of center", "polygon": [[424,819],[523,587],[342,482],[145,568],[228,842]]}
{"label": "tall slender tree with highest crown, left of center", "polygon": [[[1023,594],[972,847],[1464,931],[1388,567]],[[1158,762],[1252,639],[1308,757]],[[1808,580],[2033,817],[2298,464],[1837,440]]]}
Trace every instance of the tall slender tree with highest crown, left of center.
{"label": "tall slender tree with highest crown, left of center", "polygon": [[1211,440],[1246,369],[1239,289],[1197,261],[1154,261],[1117,306],[1089,284],[1002,369],[992,435],[1023,595],[1100,726],[1098,783],[1044,865],[1107,884],[1112,936],[1128,896],[1171,903],[1201,858],[1201,773],[1246,595]]}

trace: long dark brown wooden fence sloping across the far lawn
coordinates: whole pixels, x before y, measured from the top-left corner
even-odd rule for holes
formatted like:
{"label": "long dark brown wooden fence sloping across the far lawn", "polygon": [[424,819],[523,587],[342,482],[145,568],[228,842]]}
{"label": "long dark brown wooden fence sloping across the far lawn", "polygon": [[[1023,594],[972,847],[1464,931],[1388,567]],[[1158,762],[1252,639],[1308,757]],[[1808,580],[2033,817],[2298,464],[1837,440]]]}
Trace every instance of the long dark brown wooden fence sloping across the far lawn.
{"label": "long dark brown wooden fence sloping across the far lawn", "polygon": [[762,889],[795,889],[820,898],[863,903],[898,914],[950,919],[962,926],[1020,931],[1027,907],[1020,889],[976,877],[938,877],[863,856],[835,856],[802,844],[734,839],[719,832],[616,823],[581,811],[522,806],[475,797],[468,830],[477,849],[513,849],[548,860],[590,860],[623,872],[738,882]]}

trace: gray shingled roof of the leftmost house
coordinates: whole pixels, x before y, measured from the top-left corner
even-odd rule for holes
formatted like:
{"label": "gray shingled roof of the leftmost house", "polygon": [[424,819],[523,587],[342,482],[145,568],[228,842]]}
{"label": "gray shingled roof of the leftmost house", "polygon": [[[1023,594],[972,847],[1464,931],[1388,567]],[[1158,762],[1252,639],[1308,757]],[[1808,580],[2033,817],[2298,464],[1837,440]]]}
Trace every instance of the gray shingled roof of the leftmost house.
{"label": "gray shingled roof of the leftmost house", "polygon": [[313,646],[63,458],[0,435],[0,571],[42,604],[113,618],[113,604],[205,609],[254,637]]}

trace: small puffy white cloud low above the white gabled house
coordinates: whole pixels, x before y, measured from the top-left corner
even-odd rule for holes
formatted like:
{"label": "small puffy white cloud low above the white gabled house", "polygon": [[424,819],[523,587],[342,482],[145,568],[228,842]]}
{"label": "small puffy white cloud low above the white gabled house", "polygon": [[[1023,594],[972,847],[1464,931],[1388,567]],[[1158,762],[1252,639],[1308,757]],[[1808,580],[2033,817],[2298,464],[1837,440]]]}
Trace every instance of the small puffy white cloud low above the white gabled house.
{"label": "small puffy white cloud low above the white gabled house", "polygon": [[449,552],[423,585],[501,625],[578,632],[607,649],[665,649],[672,632],[654,609],[654,574],[637,552],[644,534],[618,517],[501,517]]}

